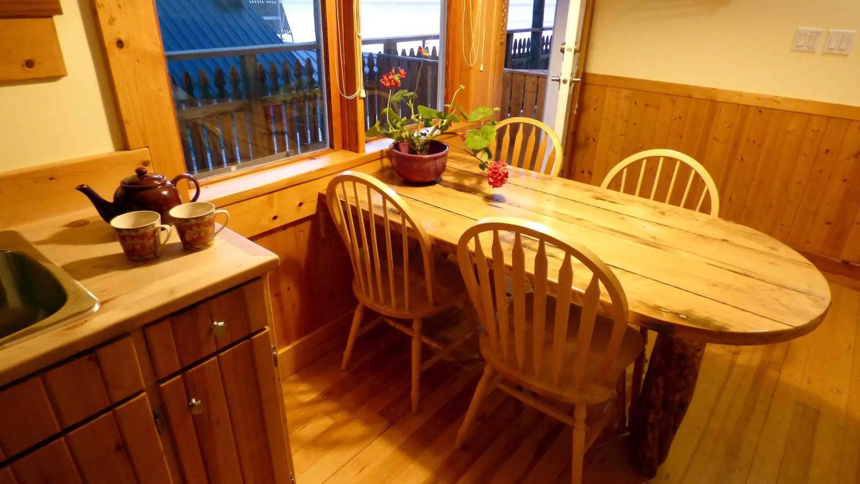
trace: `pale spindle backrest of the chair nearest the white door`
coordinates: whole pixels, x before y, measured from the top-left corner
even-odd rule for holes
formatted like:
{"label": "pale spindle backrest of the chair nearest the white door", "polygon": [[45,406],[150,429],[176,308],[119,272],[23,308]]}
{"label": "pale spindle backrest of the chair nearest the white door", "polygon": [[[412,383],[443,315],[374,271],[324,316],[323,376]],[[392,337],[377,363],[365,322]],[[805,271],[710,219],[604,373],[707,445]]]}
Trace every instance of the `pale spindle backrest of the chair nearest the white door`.
{"label": "pale spindle backrest of the chair nearest the white door", "polygon": [[537,119],[508,118],[495,126],[493,160],[557,176],[562,169],[562,142]]}

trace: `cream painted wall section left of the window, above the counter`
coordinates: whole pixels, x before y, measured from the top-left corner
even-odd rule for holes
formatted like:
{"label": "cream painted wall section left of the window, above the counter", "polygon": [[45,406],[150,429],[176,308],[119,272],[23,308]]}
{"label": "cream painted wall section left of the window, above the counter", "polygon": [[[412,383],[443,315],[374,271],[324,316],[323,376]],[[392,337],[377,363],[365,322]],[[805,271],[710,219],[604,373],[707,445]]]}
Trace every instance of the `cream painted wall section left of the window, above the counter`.
{"label": "cream painted wall section left of the window, above the counter", "polygon": [[0,83],[0,172],[122,149],[89,0],[61,3],[54,21],[68,76]]}

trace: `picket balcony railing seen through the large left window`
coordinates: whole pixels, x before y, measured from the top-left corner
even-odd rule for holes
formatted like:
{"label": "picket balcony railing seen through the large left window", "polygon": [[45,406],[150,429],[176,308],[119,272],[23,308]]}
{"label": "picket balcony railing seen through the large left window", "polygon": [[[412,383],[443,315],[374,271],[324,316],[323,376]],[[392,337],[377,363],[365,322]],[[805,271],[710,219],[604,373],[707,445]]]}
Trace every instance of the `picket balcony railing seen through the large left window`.
{"label": "picket balcony railing seen through the large left window", "polygon": [[[303,43],[167,52],[189,172],[231,171],[325,148],[324,101],[311,60],[317,47]],[[301,52],[304,62],[272,60],[271,54],[282,52]],[[208,62],[188,62],[195,60]],[[196,72],[181,69],[197,65]]]}

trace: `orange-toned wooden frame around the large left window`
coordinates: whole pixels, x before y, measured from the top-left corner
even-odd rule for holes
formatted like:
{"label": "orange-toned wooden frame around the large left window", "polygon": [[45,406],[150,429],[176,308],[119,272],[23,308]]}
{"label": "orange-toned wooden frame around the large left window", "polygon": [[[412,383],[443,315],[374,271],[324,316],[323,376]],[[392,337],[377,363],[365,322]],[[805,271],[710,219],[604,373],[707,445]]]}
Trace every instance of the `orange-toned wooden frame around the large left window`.
{"label": "orange-toned wooden frame around the large left window", "polygon": [[[180,130],[176,119],[172,88],[169,83],[167,58],[158,26],[155,2],[121,2],[120,0],[93,0],[91,3],[97,34],[105,54],[107,77],[111,84],[120,114],[120,131],[127,150],[149,148],[152,169],[168,176],[180,175],[187,171],[182,152]],[[249,168],[212,175],[203,178],[201,185],[224,181],[261,169],[299,162],[309,157],[321,156],[337,150],[350,150],[364,153],[364,137],[355,139],[360,131],[358,121],[363,118],[361,100],[341,99],[337,93],[336,81],[338,64],[337,26],[334,9],[340,6],[344,39],[341,45],[345,51],[360,46],[358,33],[351,27],[352,0],[321,0],[315,3],[315,23],[321,33],[323,55],[319,67],[320,87],[328,105],[329,147],[298,156],[284,157],[249,166]],[[333,44],[334,42],[334,44]],[[360,49],[360,47],[358,47]],[[348,53],[348,52],[347,52]],[[354,60],[344,58],[345,71],[355,72]],[[140,79],[147,81],[142,83]],[[348,79],[347,79],[348,81]],[[348,89],[347,83],[347,89]],[[187,188],[181,187],[187,194]]]}

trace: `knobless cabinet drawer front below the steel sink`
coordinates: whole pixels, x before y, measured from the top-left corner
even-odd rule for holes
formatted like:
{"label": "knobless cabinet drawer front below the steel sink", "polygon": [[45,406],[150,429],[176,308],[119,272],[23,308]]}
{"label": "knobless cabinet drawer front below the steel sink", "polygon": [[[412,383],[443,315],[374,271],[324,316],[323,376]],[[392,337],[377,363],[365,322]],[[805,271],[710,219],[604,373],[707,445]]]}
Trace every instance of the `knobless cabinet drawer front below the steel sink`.
{"label": "knobless cabinet drawer front below the steel sink", "polygon": [[0,455],[15,456],[142,389],[128,337],[15,383],[0,391]]}

